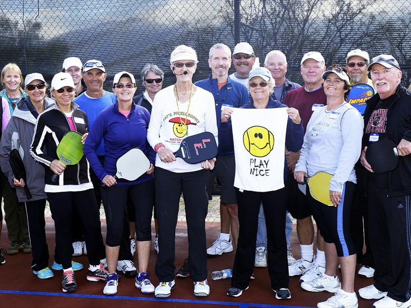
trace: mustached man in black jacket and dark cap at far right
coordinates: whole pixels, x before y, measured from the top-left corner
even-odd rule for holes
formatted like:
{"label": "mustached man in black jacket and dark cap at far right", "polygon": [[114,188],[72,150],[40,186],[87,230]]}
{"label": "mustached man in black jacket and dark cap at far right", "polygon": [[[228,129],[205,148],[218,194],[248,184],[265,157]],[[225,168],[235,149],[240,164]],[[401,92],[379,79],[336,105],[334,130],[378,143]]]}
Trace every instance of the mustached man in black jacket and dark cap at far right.
{"label": "mustached man in black jacket and dark cap at far right", "polygon": [[[401,83],[397,60],[380,54],[368,67],[378,94],[367,101],[361,164],[367,172],[369,236],[376,265],[374,284],[361,288],[373,307],[411,305],[411,92]],[[398,144],[398,166],[376,173],[365,153],[371,142],[390,139]]]}

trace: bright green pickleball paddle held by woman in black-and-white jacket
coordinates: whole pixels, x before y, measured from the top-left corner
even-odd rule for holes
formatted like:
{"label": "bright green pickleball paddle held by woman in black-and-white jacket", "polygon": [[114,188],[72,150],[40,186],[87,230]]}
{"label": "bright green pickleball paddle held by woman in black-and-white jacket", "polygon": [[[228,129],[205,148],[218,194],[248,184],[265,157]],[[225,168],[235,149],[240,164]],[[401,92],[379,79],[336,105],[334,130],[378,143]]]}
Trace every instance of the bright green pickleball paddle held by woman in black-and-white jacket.
{"label": "bright green pickleball paddle held by woman in black-and-white jacket", "polygon": [[[83,135],[77,131],[70,130],[66,132],[57,146],[57,156],[59,160],[68,165],[76,165],[79,163],[84,155],[84,144],[81,143]],[[55,182],[58,175],[54,174],[51,177],[51,181]]]}

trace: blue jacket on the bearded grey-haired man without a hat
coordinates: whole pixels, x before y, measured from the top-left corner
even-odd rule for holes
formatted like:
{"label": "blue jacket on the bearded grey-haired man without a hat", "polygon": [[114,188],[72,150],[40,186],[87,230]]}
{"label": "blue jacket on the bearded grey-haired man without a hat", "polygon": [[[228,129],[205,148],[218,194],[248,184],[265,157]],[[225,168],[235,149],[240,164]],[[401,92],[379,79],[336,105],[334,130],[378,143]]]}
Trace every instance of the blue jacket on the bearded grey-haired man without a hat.
{"label": "blue jacket on the bearded grey-haired man without a hat", "polygon": [[[219,119],[221,118],[222,104],[229,105],[230,107],[234,108],[239,108],[244,106],[250,100],[246,86],[234,80],[231,80],[230,77],[228,77],[227,84],[222,86],[219,90],[217,79],[212,79],[212,74],[209,75],[209,78],[197,81],[194,84],[213,94],[215,101],[215,113],[217,115],[217,125]],[[218,155],[234,156],[234,149],[225,151],[222,150],[219,144]]]}

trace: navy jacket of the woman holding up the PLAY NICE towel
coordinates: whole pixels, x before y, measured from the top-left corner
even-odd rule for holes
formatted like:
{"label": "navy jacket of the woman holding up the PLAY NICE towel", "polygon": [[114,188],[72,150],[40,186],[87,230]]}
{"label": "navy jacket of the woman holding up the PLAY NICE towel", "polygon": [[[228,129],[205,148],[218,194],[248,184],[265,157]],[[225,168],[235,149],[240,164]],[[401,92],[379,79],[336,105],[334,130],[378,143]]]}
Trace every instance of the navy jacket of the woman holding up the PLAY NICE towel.
{"label": "navy jacket of the woman holding up the PLAY NICE towel", "polygon": [[[253,101],[249,101],[241,108],[255,109]],[[266,108],[288,108],[286,105],[274,101],[271,97]],[[293,152],[298,152],[303,146],[304,128],[303,121],[300,124],[294,124],[290,118],[287,122],[286,131],[286,148]],[[218,126],[218,144],[221,145],[223,151],[234,150],[233,128],[231,118],[226,123],[219,123]],[[285,154],[284,154],[285,155]],[[287,180],[287,158],[284,159],[284,181]]]}

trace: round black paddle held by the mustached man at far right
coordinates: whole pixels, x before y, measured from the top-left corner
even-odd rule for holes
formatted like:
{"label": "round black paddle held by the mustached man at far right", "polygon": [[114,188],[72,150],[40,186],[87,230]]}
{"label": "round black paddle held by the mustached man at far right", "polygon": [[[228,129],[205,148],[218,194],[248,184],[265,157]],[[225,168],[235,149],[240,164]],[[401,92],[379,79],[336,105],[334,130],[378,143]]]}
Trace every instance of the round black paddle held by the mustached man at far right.
{"label": "round black paddle held by the mustached man at far right", "polygon": [[398,166],[397,146],[389,139],[372,142],[365,152],[365,159],[376,173],[387,172]]}

